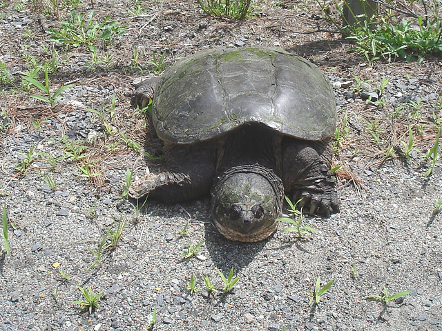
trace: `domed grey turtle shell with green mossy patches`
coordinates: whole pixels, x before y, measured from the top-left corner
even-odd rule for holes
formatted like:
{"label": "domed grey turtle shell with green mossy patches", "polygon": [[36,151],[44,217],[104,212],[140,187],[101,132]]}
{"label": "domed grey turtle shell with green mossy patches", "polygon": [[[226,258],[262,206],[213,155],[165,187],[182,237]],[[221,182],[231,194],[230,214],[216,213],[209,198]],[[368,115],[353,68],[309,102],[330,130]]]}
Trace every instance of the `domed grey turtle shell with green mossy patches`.
{"label": "domed grey turtle shell with green mossy patches", "polygon": [[322,140],[336,128],[336,101],[323,72],[306,59],[269,48],[217,48],[164,72],[153,123],[173,143],[211,139],[244,123]]}

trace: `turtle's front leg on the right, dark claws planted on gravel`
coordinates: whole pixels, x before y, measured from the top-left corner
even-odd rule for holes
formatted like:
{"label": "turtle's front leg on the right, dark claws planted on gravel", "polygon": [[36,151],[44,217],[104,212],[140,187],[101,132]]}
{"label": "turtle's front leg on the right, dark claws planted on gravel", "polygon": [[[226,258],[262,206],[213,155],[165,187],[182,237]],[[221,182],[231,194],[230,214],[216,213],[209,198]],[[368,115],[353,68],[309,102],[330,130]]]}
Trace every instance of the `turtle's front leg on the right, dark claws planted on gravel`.
{"label": "turtle's front leg on the right, dark claws planted on gravel", "polygon": [[330,214],[339,211],[336,178],[330,171],[332,150],[329,141],[287,139],[282,145],[282,173],[286,192],[300,206],[314,212]]}

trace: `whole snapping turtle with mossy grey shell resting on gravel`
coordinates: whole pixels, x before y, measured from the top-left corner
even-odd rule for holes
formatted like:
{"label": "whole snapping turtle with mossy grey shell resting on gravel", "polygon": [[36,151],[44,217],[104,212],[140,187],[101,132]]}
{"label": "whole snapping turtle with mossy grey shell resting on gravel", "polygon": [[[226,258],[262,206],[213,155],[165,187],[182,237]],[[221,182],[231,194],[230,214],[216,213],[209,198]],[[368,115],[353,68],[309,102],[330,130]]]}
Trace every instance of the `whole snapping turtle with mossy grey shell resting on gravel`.
{"label": "whole snapping turtle with mossy grey shell resting on gravel", "polygon": [[275,232],[284,194],[310,213],[338,212],[327,139],[336,103],[309,61],[268,48],[202,50],[143,83],[133,101],[151,98],[168,170],[132,183],[131,197],[173,203],[210,192],[215,227],[248,242]]}

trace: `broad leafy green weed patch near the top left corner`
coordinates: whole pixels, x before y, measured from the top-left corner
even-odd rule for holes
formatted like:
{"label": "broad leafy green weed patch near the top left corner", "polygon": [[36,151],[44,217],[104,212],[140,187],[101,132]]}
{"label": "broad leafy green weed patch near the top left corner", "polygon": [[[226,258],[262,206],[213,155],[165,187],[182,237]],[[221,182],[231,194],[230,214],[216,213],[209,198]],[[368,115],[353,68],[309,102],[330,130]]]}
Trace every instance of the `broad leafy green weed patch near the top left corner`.
{"label": "broad leafy green weed patch near the top left corner", "polygon": [[61,23],[60,30],[48,29],[46,32],[51,35],[50,40],[61,46],[79,47],[80,45],[93,45],[102,41],[104,46],[109,46],[117,37],[124,34],[126,26],[119,26],[117,21],[109,21],[110,16],[104,17],[103,21],[93,20],[94,10],[87,16],[77,10],[73,10],[70,19]]}

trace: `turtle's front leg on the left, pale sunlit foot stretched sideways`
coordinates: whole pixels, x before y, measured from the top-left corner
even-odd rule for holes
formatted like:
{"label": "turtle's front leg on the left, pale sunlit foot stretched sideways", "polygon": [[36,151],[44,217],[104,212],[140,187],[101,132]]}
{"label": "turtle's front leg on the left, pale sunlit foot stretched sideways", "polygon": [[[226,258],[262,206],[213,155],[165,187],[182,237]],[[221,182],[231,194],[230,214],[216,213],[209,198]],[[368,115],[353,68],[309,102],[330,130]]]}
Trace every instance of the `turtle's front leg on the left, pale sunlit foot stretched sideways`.
{"label": "turtle's front leg on the left, pale sunlit foot stretched sideways", "polygon": [[165,144],[168,170],[148,173],[129,188],[133,199],[157,199],[165,203],[209,195],[215,177],[214,151],[205,143]]}

